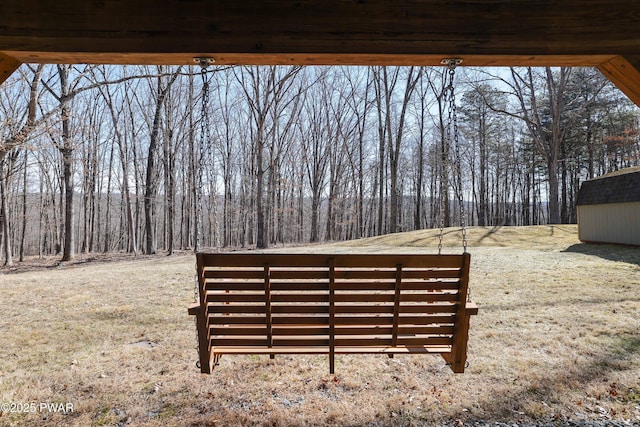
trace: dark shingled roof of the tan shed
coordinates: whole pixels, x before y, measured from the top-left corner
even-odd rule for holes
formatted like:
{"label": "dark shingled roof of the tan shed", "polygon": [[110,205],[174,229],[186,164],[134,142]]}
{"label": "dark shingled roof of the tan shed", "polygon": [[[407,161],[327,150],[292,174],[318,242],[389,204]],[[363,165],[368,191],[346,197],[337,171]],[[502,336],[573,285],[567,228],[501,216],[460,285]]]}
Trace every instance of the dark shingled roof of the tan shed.
{"label": "dark shingled roof of the tan shed", "polygon": [[640,201],[640,167],[621,169],[582,183],[577,205]]}

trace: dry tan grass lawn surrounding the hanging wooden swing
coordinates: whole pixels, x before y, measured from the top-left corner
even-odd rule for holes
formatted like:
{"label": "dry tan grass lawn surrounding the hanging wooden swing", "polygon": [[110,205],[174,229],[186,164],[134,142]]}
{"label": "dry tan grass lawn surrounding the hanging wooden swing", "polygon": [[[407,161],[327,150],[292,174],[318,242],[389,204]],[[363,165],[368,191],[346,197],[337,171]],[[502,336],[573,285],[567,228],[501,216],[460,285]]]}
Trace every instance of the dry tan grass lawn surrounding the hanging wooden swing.
{"label": "dry tan grass lawn surrounding the hanging wooden swing", "polygon": [[[436,235],[295,250],[433,252]],[[640,423],[640,250],[576,235],[469,231],[480,314],[463,375],[421,355],[338,356],[336,376],[323,356],[225,356],[201,375],[188,255],[4,274],[0,402],[74,411],[3,413],[0,425]]]}

